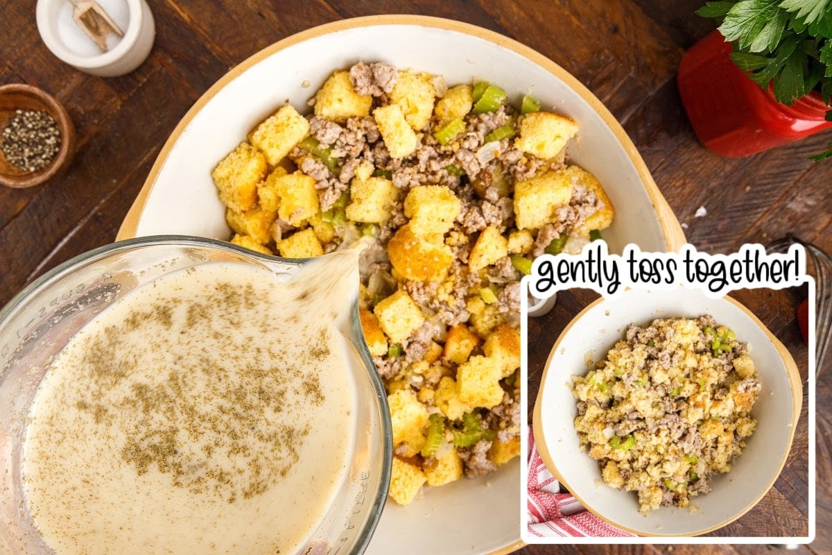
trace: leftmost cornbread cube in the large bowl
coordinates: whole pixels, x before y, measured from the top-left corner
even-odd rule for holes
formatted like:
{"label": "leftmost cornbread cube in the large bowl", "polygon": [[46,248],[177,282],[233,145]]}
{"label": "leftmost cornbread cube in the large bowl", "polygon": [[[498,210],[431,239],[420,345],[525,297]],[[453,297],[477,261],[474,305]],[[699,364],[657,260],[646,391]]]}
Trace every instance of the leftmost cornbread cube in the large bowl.
{"label": "leftmost cornbread cube in the large bowl", "polygon": [[225,206],[245,212],[257,201],[257,184],[266,172],[265,156],[247,142],[241,142],[211,171],[211,178]]}

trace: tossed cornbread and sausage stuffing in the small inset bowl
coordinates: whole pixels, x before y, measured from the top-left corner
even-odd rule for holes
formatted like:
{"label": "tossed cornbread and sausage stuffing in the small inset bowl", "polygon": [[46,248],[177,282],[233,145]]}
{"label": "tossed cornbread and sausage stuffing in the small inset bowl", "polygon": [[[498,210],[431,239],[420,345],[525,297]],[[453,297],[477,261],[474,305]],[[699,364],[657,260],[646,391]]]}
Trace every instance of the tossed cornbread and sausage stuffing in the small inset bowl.
{"label": "tossed cornbread and sausage stuffing in the small inset bowl", "polygon": [[572,377],[581,447],[642,513],[687,507],[754,432],[760,380],[745,344],[711,316],[630,325],[607,359]]}

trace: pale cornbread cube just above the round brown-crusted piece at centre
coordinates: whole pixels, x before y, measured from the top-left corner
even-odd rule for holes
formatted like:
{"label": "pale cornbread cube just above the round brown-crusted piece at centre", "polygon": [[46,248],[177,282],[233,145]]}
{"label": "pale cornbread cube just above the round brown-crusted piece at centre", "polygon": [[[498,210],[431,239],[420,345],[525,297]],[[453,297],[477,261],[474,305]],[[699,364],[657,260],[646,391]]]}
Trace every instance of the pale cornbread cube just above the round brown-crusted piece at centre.
{"label": "pale cornbread cube just above the round brown-crusted piece at centre", "polygon": [[404,216],[410,218],[414,235],[447,233],[459,216],[461,202],[444,185],[424,185],[412,188],[404,199]]}

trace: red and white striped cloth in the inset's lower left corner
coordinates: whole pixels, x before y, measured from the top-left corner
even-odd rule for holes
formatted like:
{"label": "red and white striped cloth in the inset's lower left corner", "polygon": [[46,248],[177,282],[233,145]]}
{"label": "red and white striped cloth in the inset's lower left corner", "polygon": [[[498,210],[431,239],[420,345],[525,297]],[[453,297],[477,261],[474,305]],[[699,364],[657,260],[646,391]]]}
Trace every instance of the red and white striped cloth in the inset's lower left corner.
{"label": "red and white striped cloth in the inset's lower left corner", "polygon": [[632,534],[604,522],[583,508],[572,493],[562,493],[537,453],[534,436],[528,434],[528,533],[539,538],[631,538]]}

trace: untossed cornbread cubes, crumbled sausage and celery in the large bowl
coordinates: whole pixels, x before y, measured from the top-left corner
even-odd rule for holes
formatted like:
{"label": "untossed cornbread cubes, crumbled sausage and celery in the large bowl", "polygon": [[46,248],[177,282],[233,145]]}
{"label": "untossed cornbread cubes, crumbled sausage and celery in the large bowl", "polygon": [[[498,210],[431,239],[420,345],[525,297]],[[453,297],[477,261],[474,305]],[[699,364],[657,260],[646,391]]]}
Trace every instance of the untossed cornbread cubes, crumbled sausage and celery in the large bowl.
{"label": "untossed cornbread cubes, crumbled sausage and celery in the large bowl", "polygon": [[311,111],[279,107],[212,174],[237,245],[293,258],[371,245],[360,317],[403,505],[518,456],[522,275],[612,224],[597,179],[565,160],[577,123],[515,100],[359,62]]}

